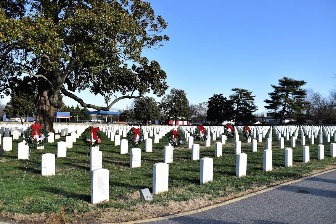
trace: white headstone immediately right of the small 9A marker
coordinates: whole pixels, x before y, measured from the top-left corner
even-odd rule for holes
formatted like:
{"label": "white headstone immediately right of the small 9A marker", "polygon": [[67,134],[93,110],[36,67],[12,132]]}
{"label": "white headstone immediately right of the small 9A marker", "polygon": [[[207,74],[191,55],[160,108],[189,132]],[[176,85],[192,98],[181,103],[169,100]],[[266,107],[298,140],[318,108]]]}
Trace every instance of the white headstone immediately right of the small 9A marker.
{"label": "white headstone immediately right of the small 9A marker", "polygon": [[168,191],[168,172],[167,163],[156,163],[153,165],[153,193]]}

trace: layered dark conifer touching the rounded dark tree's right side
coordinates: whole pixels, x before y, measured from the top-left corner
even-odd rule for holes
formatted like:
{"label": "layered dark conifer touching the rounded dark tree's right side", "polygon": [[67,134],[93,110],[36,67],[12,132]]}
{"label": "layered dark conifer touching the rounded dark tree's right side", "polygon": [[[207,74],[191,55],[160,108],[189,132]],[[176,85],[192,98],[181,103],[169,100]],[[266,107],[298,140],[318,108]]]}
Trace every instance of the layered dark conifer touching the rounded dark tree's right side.
{"label": "layered dark conifer touching the rounded dark tree's right side", "polygon": [[246,89],[234,88],[232,91],[236,92],[229,96],[232,106],[234,107],[235,124],[240,121],[254,121],[253,113],[257,110],[257,106],[254,104],[254,97]]}

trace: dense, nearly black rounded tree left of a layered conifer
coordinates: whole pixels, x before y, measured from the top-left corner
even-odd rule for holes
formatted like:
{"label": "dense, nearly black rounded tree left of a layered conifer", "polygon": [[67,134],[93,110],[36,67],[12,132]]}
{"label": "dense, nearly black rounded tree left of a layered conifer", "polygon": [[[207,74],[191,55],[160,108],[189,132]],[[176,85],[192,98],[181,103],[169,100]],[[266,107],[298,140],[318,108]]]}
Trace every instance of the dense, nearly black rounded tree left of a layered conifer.
{"label": "dense, nearly black rounded tree left of a layered conifer", "polygon": [[223,121],[231,121],[233,118],[232,102],[223,94],[213,94],[208,100],[207,119],[219,124]]}

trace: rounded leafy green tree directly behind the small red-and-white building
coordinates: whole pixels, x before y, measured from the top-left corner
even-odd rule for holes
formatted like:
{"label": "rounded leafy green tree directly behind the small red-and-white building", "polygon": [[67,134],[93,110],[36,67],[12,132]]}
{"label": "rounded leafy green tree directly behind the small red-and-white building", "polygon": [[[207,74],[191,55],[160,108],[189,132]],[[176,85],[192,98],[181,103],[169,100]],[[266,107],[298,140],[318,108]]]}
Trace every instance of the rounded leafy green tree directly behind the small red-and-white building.
{"label": "rounded leafy green tree directly behind the small red-and-white building", "polygon": [[166,94],[160,103],[165,119],[190,118],[189,101],[183,89],[172,89],[170,94]]}

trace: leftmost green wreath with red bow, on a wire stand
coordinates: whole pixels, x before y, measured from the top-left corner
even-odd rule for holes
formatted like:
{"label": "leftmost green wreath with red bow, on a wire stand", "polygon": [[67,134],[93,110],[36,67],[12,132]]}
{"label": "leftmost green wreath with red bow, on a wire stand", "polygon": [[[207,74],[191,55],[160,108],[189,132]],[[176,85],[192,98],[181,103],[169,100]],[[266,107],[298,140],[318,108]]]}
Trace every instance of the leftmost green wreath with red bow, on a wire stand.
{"label": "leftmost green wreath with red bow, on a wire stand", "polygon": [[[36,138],[36,136],[38,136],[38,138]],[[47,129],[39,123],[32,124],[23,132],[23,139],[26,141],[26,145],[32,148],[44,146],[48,136],[49,132]]]}

